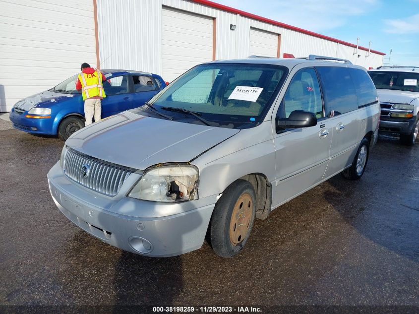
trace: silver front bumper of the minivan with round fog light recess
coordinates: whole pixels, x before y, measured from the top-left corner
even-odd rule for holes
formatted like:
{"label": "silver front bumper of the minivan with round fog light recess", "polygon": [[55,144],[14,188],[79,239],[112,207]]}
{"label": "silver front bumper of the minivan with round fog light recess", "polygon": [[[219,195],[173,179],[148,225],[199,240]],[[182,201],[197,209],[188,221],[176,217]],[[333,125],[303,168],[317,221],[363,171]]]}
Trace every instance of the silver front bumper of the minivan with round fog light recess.
{"label": "silver front bumper of the minivan with round fog light recess", "polygon": [[109,197],[68,179],[59,163],[48,173],[48,183],[58,208],[74,224],[121,250],[153,257],[199,249],[217,197],[171,204],[142,201],[124,196],[130,188],[125,185]]}

